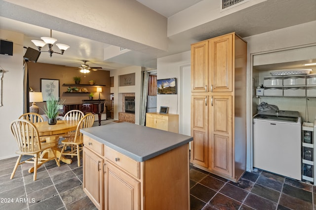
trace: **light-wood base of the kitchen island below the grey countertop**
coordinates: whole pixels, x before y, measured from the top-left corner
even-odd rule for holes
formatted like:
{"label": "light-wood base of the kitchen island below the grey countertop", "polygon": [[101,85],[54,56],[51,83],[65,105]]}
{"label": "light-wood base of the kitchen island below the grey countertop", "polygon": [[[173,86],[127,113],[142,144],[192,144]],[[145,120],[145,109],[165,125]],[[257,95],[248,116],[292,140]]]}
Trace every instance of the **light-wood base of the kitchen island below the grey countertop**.
{"label": "light-wood base of the kitchen island below the grey countertop", "polygon": [[188,143],[138,162],[86,135],[83,142],[83,191],[97,209],[190,209]]}

